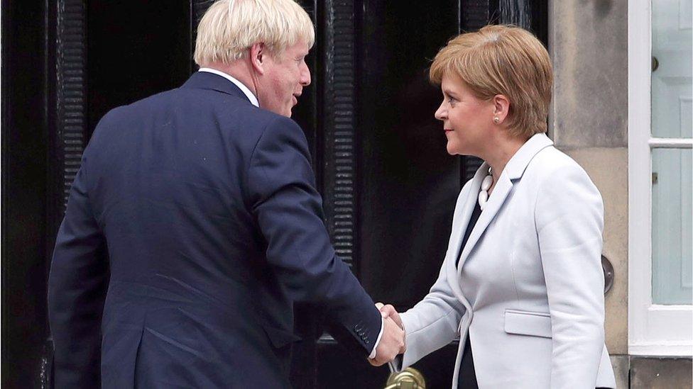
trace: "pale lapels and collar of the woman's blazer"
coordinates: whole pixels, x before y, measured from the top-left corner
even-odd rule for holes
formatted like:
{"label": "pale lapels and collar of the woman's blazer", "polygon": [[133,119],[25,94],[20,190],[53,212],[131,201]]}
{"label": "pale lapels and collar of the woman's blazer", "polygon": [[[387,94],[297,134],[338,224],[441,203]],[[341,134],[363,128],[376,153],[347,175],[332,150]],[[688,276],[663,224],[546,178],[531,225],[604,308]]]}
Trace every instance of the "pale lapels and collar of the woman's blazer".
{"label": "pale lapels and collar of the woman's blazer", "polygon": [[[501,210],[503,203],[505,203],[508,194],[513,188],[513,181],[520,179],[520,177],[524,174],[525,169],[527,169],[530,161],[538,152],[540,152],[540,150],[551,145],[553,145],[553,142],[545,134],[535,134],[533,137],[530,137],[530,139],[525,142],[522,147],[520,147],[520,150],[515,152],[515,155],[511,157],[510,161],[508,161],[508,164],[506,164],[505,169],[503,169],[501,176],[498,178],[496,186],[493,188],[493,192],[489,197],[489,201],[486,203],[486,207],[481,212],[481,215],[479,215],[479,220],[476,221],[476,225],[474,225],[474,228],[471,230],[471,235],[469,235],[469,239],[464,247],[459,247],[462,245],[462,237],[464,235],[459,233],[457,236],[457,239],[459,239],[457,245],[459,249],[462,249],[459,264],[457,265],[458,277],[460,271],[462,271],[464,261],[466,261],[467,257],[469,256],[469,253],[472,249],[474,249],[476,243],[479,242],[481,235],[483,235],[484,231],[486,231],[486,227],[488,227],[489,224],[491,224],[491,221],[493,221],[493,218],[496,217],[498,210]],[[476,174],[474,174],[474,178],[471,181],[469,194],[464,206],[462,207],[462,218],[465,220],[465,222],[462,223],[464,225],[464,227],[462,227],[462,232],[466,230],[466,225],[469,224],[469,218],[474,210],[474,203],[478,201],[477,196],[479,194],[479,189],[481,188],[481,181],[484,180],[484,177],[488,171],[489,164],[484,162],[484,164],[481,164],[481,167],[479,167],[479,169],[476,171]],[[457,252],[459,252],[459,249]],[[455,258],[457,258],[457,256]]]}

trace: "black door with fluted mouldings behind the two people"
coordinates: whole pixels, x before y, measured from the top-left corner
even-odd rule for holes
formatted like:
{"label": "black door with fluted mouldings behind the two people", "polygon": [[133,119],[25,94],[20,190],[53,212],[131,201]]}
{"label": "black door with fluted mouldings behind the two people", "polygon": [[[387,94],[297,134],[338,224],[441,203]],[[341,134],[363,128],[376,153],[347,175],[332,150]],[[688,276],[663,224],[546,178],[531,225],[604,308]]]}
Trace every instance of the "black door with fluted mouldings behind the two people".
{"label": "black door with fluted mouldings behind the two people", "polygon": [[[195,71],[195,26],[212,3],[2,1],[4,387],[50,387],[45,278],[94,126]],[[479,166],[445,151],[430,60],[461,30],[487,23],[520,24],[546,41],[546,0],[300,3],[317,42],[313,84],[294,118],[310,142],[332,242],[374,300],[406,310],[435,281],[457,193]],[[295,388],[385,385],[388,368],[347,354],[314,308],[297,310]],[[456,351],[450,344],[414,366],[428,388],[449,386]]]}

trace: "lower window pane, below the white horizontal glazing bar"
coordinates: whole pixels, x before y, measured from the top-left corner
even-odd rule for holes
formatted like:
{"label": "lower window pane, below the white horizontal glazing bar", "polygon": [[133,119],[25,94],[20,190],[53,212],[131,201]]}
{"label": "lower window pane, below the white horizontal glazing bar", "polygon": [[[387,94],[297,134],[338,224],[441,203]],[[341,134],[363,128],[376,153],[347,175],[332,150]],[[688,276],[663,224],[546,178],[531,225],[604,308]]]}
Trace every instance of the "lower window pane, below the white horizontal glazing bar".
{"label": "lower window pane, below the white horizontal glazing bar", "polygon": [[693,150],[652,152],[652,299],[691,304]]}

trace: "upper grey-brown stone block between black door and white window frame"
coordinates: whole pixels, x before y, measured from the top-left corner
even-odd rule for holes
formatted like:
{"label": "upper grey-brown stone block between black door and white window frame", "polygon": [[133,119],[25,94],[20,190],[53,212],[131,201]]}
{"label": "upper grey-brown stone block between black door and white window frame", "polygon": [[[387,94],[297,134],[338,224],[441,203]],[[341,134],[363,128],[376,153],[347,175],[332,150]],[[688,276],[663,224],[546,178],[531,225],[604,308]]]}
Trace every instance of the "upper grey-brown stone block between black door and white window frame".
{"label": "upper grey-brown stone block between black door and white window frame", "polygon": [[628,1],[550,1],[549,49],[556,144],[627,147]]}

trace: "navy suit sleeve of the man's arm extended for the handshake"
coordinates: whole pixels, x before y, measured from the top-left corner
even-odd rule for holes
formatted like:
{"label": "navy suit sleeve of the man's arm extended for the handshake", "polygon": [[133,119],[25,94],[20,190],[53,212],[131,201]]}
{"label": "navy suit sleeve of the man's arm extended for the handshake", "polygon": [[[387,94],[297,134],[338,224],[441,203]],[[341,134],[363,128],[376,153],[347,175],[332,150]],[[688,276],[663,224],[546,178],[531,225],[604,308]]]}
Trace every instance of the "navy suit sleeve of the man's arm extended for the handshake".
{"label": "navy suit sleeve of the man's arm extended for the handshake", "polygon": [[268,244],[266,256],[290,298],[323,305],[367,356],[381,315],[349,266],[334,253],[322,220],[307,140],[289,118],[263,130],[247,174],[251,212]]}

